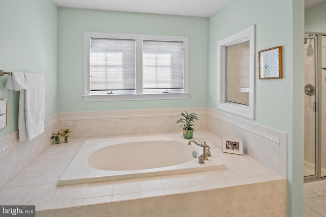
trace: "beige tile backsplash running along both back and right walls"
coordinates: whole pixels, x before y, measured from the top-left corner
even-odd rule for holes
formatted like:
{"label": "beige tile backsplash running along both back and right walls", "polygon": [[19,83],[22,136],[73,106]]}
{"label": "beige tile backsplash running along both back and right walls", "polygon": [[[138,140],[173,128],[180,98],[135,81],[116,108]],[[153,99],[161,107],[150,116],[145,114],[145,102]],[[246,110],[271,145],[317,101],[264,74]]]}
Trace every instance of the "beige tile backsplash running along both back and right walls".
{"label": "beige tile backsplash running along both back and right walls", "polygon": [[70,138],[181,132],[176,120],[183,111],[198,114],[195,135],[209,130],[221,138],[242,138],[244,152],[286,177],[286,133],[208,107],[67,112],[59,114],[59,127],[72,129]]}

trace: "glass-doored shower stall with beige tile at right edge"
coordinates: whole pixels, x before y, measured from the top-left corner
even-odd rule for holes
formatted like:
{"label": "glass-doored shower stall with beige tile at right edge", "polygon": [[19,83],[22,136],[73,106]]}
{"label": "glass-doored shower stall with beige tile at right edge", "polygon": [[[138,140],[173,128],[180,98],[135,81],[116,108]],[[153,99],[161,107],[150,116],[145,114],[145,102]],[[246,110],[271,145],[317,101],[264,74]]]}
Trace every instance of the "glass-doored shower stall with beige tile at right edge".
{"label": "glass-doored shower stall with beige tile at right edge", "polygon": [[326,189],[326,34],[305,35],[304,182]]}

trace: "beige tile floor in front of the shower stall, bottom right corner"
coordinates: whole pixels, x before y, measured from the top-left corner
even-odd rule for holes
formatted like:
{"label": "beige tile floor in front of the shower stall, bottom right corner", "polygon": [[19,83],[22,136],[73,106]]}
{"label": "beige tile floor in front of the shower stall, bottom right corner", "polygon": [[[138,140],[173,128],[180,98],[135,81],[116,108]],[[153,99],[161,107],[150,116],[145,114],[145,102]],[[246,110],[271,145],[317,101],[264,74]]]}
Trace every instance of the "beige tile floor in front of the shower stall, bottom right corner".
{"label": "beige tile floor in front of the shower stall, bottom right corner", "polygon": [[304,217],[326,217],[326,190],[304,194]]}

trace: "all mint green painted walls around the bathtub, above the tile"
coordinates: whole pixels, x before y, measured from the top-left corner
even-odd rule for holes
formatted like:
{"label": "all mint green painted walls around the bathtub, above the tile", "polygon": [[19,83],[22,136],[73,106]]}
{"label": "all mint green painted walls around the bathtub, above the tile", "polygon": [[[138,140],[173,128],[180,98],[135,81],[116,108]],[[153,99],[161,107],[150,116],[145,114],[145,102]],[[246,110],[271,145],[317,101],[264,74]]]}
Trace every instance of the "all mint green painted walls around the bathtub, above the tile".
{"label": "all mint green painted walls around the bathtub, above the tile", "polygon": [[[288,216],[302,216],[304,0],[232,0],[209,19],[58,9],[50,0],[1,0],[0,8],[0,69],[45,74],[46,117],[58,112],[98,110],[215,109],[216,42],[255,24],[253,122],[288,133]],[[316,10],[322,16],[324,10]],[[309,13],[307,10],[306,16]],[[308,21],[306,18],[306,25]],[[84,31],[188,36],[191,95],[183,100],[84,102]],[[283,46],[283,78],[259,80],[258,51],[279,45]],[[18,92],[6,90],[6,80],[6,75],[0,77],[0,99],[9,100],[9,123],[0,130],[0,138],[16,131],[18,122]]]}

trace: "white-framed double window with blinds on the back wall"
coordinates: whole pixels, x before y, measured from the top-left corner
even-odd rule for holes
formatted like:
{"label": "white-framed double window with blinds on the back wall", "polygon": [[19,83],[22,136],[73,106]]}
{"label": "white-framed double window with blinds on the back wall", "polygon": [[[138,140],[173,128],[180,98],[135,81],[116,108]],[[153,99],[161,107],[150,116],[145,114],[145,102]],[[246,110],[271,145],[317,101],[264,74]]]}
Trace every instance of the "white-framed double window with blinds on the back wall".
{"label": "white-framed double window with blinds on the back wall", "polygon": [[188,38],[84,33],[85,101],[188,97]]}

